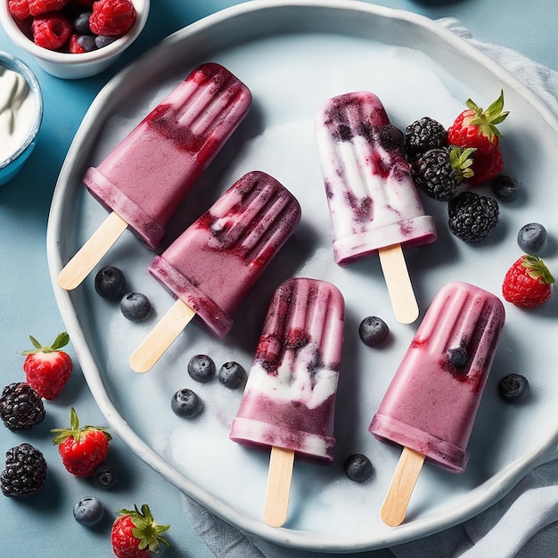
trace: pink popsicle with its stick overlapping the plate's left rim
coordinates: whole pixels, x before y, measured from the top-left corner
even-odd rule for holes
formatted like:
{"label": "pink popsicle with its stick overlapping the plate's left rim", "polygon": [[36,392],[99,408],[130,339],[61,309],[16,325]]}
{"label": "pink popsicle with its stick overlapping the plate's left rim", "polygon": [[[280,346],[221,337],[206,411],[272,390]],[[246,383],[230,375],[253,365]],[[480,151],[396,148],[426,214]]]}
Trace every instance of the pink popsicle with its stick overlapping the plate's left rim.
{"label": "pink popsicle with its stick overlapping the plate's left rim", "polygon": [[247,86],[217,63],[201,64],[97,166],[87,190],[111,214],[62,269],[76,288],[129,228],[156,249],[185,195],[250,108]]}

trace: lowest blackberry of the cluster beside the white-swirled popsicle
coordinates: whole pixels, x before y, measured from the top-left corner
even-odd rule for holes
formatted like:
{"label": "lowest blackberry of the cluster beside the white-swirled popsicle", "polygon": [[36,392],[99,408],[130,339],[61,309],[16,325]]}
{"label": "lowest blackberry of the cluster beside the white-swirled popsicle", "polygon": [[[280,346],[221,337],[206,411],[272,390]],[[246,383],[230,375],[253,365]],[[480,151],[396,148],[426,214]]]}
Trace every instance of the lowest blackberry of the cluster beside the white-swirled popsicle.
{"label": "lowest blackberry of the cluster beside the white-swirled popsicle", "polygon": [[447,203],[449,230],[465,242],[479,242],[498,222],[498,203],[474,192],[463,192]]}

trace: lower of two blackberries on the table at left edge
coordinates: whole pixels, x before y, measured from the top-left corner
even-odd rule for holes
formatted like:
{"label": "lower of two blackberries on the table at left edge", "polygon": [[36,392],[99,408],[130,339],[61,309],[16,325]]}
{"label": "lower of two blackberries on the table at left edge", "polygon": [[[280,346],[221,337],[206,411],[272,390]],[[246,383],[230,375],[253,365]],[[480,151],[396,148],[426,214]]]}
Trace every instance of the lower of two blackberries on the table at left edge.
{"label": "lower of two blackberries on the table at left edge", "polygon": [[0,473],[4,496],[29,496],[43,489],[46,462],[43,454],[30,444],[12,447],[6,452],[6,464]]}

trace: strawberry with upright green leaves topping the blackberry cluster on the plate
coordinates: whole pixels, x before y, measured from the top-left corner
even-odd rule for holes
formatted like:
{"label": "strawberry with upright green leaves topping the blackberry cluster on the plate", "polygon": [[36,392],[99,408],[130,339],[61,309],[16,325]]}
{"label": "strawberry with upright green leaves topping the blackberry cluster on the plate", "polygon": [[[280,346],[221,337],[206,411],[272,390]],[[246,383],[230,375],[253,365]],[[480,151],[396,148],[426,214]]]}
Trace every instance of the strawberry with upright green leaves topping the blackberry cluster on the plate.
{"label": "strawberry with upright green leaves topping the blackberry cluster on the plate", "polygon": [[497,149],[500,134],[496,124],[501,124],[509,114],[504,109],[504,91],[486,111],[471,99],[467,100],[467,110],[462,111],[454,123],[447,128],[449,144],[462,148],[474,148],[477,154],[487,154]]}

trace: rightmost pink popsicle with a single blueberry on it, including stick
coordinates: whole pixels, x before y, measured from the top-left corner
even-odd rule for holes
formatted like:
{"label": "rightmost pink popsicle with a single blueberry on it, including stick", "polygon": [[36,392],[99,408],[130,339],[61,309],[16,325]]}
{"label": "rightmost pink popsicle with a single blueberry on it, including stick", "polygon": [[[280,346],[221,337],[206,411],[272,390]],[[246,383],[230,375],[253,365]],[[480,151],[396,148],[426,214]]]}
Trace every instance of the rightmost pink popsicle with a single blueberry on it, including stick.
{"label": "rightmost pink popsicle with a single blueberry on it, including stick", "polygon": [[377,439],[404,447],[382,506],[388,525],[405,519],[425,459],[464,471],[504,322],[502,302],[469,283],[448,283],[432,301],[370,424]]}

